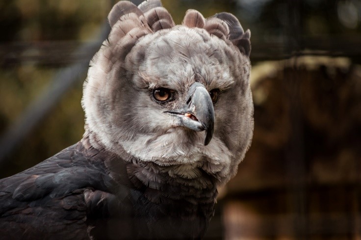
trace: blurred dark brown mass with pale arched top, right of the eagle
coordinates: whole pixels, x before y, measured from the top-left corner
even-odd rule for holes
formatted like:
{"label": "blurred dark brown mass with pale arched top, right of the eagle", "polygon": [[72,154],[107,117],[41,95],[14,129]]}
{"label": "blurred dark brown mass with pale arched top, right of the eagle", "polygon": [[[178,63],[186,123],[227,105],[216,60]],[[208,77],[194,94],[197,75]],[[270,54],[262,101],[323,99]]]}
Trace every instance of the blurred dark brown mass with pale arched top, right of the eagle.
{"label": "blurred dark brown mass with pale arched top, right of the eagle", "polygon": [[227,239],[360,238],[361,66],[307,56],[252,71],[255,132],[223,199]]}

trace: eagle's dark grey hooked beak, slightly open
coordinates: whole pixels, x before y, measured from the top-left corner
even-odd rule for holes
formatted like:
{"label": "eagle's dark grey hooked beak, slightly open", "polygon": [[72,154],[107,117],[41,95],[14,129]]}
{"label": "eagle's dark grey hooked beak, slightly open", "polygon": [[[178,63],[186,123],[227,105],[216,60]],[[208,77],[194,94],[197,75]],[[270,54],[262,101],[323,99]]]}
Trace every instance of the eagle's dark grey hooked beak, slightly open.
{"label": "eagle's dark grey hooked beak, slightly open", "polygon": [[180,125],[191,130],[206,131],[205,146],[212,139],[214,129],[214,109],[212,99],[202,83],[193,83],[188,91],[186,106],[174,111],[166,111],[175,114]]}

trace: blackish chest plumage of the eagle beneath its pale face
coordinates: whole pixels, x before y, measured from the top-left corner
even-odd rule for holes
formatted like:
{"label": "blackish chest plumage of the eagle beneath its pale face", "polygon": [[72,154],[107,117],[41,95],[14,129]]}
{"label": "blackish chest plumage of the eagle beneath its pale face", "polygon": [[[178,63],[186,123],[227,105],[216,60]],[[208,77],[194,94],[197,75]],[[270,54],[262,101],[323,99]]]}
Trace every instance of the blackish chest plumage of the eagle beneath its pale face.
{"label": "blackish chest plumage of the eagle beneath its pale face", "polygon": [[[214,213],[217,189],[205,172],[181,178],[173,168],[129,163],[133,229],[140,239],[199,239]],[[174,173],[174,174],[170,174]]]}

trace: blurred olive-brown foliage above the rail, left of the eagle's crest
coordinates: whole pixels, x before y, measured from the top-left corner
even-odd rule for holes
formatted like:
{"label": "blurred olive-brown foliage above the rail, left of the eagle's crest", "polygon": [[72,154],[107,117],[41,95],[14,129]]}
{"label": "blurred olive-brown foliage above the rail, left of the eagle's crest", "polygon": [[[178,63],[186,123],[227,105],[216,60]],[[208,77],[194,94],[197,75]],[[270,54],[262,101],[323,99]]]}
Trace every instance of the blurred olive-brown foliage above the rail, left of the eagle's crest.
{"label": "blurred olive-brown foliage above the rail, left of the eagle's crest", "polygon": [[88,40],[111,6],[97,0],[1,1],[0,42]]}

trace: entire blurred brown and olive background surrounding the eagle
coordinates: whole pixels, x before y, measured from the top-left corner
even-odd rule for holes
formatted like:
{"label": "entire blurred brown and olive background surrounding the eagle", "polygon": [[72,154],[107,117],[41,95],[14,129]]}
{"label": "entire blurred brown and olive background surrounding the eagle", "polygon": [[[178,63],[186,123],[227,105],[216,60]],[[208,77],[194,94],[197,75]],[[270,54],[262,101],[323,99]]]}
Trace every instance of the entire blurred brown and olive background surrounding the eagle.
{"label": "entire blurred brown and olive background surrounding the eagle", "polygon": [[[0,0],[0,177],[82,136],[115,0]],[[140,2],[140,1],[137,1]],[[361,0],[163,0],[252,32],[252,147],[206,239],[361,240]]]}

